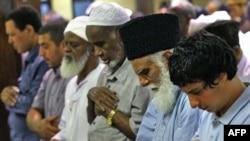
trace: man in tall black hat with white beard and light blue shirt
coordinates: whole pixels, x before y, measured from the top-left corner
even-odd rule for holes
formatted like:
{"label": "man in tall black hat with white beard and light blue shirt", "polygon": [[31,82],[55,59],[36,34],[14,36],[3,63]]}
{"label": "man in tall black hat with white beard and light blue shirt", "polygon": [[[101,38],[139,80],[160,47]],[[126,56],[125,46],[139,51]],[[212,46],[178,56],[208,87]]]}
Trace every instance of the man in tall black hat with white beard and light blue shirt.
{"label": "man in tall black hat with white beard and light blue shirt", "polygon": [[201,111],[192,109],[188,97],[171,83],[167,66],[167,58],[180,38],[177,17],[139,17],[125,23],[119,33],[141,85],[155,93],[136,140],[190,141]]}

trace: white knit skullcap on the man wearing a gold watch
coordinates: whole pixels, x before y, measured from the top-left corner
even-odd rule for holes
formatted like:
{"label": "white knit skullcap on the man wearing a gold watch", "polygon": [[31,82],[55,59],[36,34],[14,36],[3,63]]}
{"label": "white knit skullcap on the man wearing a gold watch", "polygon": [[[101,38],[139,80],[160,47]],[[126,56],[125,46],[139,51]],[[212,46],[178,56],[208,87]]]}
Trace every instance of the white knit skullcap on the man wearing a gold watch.
{"label": "white knit skullcap on the man wearing a gold watch", "polygon": [[90,12],[87,25],[118,26],[129,21],[130,15],[117,3],[101,3]]}

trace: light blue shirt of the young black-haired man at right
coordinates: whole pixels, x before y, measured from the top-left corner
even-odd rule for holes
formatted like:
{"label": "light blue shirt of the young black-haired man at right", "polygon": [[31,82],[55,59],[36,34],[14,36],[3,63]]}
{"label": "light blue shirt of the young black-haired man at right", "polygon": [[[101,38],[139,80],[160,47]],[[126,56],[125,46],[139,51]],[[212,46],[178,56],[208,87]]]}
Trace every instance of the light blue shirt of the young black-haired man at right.
{"label": "light blue shirt of the young black-haired man at right", "polygon": [[199,129],[193,140],[200,141],[224,141],[224,125],[249,125],[250,124],[250,87],[247,87],[242,95],[222,116],[204,111]]}

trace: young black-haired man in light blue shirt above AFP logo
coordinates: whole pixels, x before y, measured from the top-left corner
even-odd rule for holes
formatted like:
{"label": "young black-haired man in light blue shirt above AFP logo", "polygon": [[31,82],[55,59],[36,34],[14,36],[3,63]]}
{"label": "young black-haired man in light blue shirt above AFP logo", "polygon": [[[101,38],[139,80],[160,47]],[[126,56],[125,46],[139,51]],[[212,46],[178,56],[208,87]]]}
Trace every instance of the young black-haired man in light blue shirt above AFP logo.
{"label": "young black-haired man in light blue shirt above AFP logo", "polygon": [[193,140],[224,140],[224,125],[250,124],[250,88],[236,75],[228,44],[206,31],[180,41],[169,59],[171,81],[205,110]]}

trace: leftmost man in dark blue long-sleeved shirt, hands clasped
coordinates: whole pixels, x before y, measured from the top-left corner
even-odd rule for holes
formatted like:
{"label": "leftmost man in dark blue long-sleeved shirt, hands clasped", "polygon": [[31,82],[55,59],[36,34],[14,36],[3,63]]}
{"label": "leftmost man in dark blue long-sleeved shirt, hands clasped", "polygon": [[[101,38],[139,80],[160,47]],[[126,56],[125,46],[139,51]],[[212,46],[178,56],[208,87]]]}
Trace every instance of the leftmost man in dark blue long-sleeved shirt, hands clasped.
{"label": "leftmost man in dark blue long-sleeved shirt, hands clasped", "polygon": [[9,111],[11,140],[39,140],[26,124],[26,115],[39,89],[43,75],[49,69],[38,55],[38,30],[41,27],[39,13],[30,6],[14,9],[5,21],[6,33],[18,53],[29,52],[24,60],[24,69],[18,87],[5,87],[1,99]]}

